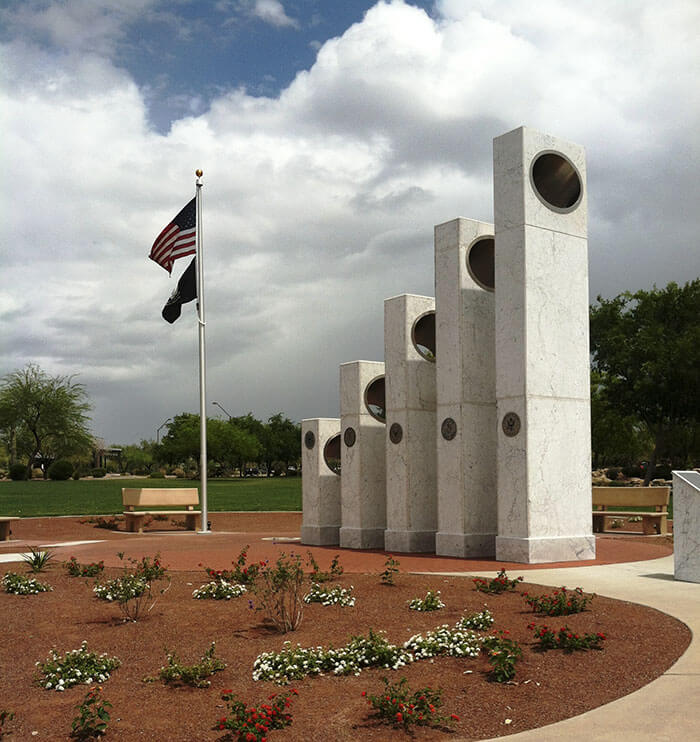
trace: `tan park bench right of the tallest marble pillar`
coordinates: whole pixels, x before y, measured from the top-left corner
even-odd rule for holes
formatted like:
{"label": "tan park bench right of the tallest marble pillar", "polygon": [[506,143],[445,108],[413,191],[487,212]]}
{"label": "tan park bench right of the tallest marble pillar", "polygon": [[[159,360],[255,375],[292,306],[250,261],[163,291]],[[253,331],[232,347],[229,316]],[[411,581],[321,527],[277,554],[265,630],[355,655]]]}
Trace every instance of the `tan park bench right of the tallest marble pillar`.
{"label": "tan park bench right of the tallest marble pillar", "polygon": [[[668,533],[668,501],[670,487],[594,487],[593,531],[605,530],[606,518],[640,516],[645,535]],[[621,508],[654,508],[653,512],[621,510]]]}

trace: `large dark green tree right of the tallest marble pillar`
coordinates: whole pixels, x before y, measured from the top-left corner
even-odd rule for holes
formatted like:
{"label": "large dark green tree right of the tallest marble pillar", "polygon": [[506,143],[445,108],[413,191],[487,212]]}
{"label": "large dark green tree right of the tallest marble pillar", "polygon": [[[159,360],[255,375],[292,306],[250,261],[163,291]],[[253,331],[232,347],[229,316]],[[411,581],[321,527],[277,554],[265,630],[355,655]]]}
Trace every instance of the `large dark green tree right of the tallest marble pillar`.
{"label": "large dark green tree right of the tallest marble pillar", "polygon": [[591,307],[593,371],[609,406],[643,422],[653,438],[648,484],[678,430],[700,421],[700,279],[597,301]]}

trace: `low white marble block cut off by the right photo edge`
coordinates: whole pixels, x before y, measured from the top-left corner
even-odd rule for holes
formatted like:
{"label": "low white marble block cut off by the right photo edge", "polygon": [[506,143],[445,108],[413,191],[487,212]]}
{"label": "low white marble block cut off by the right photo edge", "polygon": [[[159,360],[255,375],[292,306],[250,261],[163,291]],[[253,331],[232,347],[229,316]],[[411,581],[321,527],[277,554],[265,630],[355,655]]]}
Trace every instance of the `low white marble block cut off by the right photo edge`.
{"label": "low white marble block cut off by the right photo edge", "polygon": [[673,576],[700,582],[700,473],[673,472]]}

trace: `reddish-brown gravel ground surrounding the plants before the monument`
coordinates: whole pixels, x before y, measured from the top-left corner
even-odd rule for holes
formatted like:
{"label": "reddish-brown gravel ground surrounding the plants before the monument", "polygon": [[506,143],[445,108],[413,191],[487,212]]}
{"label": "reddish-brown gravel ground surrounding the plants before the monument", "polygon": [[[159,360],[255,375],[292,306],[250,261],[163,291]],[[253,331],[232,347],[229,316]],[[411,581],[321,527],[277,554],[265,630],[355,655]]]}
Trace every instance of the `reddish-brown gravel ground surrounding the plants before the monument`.
{"label": "reddish-brown gravel ground surrounding the plants before the monument", "polygon": [[[375,740],[403,738],[403,732],[378,725],[368,713],[361,693],[378,693],[381,677],[398,680],[405,676],[412,688],[443,689],[444,711],[460,717],[452,733],[416,728],[416,740],[471,740],[509,734],[542,726],[580,714],[623,696],[663,673],[685,650],[690,632],[679,621],[658,611],[631,603],[596,597],[591,610],[546,622],[558,627],[568,624],[574,631],[603,632],[602,651],[563,654],[536,650],[527,625],[533,616],[521,593],[550,592],[538,588],[537,571],[523,565],[508,567],[510,576],[524,574],[515,594],[484,595],[473,589],[471,579],[439,575],[409,575],[409,570],[479,571],[500,567],[493,561],[473,562],[435,556],[398,555],[401,573],[395,587],[381,584],[379,572],[386,554],[349,552],[337,548],[312,551],[322,568],[340,553],[346,573],[339,584],[354,586],[353,608],[310,605],[305,608],[300,628],[291,634],[273,632],[262,614],[251,610],[245,596],[226,601],[198,601],[192,590],[207,576],[197,565],[215,569],[230,567],[240,549],[250,544],[251,559],[277,558],[280,552],[296,550],[298,543],[279,543],[272,536],[298,535],[300,515],[220,514],[211,515],[210,535],[158,532],[144,535],[105,531],[74,518],[27,519],[16,524],[14,542],[2,544],[0,554],[20,551],[25,544],[104,539],[103,543],[55,548],[57,558],[39,578],[53,592],[35,596],[0,593],[0,711],[15,712],[7,725],[8,740],[67,739],[75,705],[87,688],[76,686],[64,693],[40,688],[35,682],[35,662],[47,659],[49,650],[77,649],[83,640],[97,652],[107,652],[122,661],[103,685],[112,704],[112,720],[106,739],[136,740],[222,740],[215,729],[225,714],[221,693],[233,689],[249,704],[258,705],[279,690],[269,682],[253,682],[255,657],[262,651],[279,650],[285,640],[302,646],[344,644],[352,635],[367,634],[370,628],[383,630],[393,643],[443,623],[454,624],[465,612],[478,611],[487,603],[496,623],[494,629],[509,630],[522,644],[523,659],[515,682],[508,685],[488,680],[490,666],[478,659],[436,659],[414,663],[398,672],[367,670],[359,677],[307,678],[294,684],[299,696],[292,707],[293,723],[283,731],[270,733],[269,740]],[[153,526],[162,527],[162,523]],[[634,561],[663,556],[670,552],[665,539],[603,537],[597,540],[598,557],[607,561]],[[93,597],[93,580],[70,578],[60,562],[75,555],[85,563],[103,558],[107,574],[119,573],[116,552],[135,558],[160,552],[169,565],[172,584],[154,608],[137,623],[124,623],[118,608]],[[547,565],[551,566],[551,565]],[[2,565],[0,571],[25,571],[24,564]],[[568,587],[575,587],[569,585]],[[440,590],[447,607],[433,613],[409,611],[407,601],[423,597],[427,590]],[[165,664],[165,650],[176,651],[183,662],[192,663],[216,641],[216,655],[227,667],[215,674],[207,689],[169,687],[162,682],[144,683]],[[508,721],[510,720],[510,721]],[[36,733],[36,734],[34,734]]]}

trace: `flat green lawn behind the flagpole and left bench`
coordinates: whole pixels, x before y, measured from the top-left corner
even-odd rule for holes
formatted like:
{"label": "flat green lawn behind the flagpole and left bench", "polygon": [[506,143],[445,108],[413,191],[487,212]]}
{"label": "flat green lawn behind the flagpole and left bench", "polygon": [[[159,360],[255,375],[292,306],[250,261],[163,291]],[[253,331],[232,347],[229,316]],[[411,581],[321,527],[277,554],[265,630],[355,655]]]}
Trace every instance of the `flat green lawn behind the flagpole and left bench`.
{"label": "flat green lawn behind the flagpole and left bench", "polygon": [[[0,515],[107,515],[121,513],[122,487],[199,487],[187,479],[96,479],[74,482],[0,482]],[[210,479],[211,512],[301,510],[301,477]]]}

